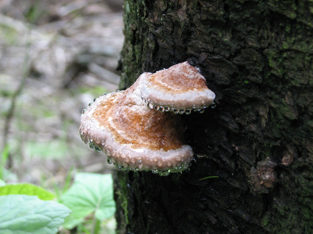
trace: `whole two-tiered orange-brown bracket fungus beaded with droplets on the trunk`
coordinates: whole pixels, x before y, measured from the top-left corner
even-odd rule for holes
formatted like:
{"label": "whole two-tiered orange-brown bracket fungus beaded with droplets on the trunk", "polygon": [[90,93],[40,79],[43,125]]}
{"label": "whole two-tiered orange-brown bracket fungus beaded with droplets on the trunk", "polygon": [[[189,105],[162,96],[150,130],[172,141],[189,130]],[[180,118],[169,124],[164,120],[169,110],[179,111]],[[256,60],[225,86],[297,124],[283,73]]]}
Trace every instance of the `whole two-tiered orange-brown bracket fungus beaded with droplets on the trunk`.
{"label": "whole two-tiered orange-brown bracket fungus beaded with droplets on the trunk", "polygon": [[173,113],[202,112],[214,98],[204,77],[188,62],[145,72],[127,90],[105,93],[91,102],[81,115],[80,135],[123,170],[180,172],[189,167],[193,151],[184,139],[181,116]]}

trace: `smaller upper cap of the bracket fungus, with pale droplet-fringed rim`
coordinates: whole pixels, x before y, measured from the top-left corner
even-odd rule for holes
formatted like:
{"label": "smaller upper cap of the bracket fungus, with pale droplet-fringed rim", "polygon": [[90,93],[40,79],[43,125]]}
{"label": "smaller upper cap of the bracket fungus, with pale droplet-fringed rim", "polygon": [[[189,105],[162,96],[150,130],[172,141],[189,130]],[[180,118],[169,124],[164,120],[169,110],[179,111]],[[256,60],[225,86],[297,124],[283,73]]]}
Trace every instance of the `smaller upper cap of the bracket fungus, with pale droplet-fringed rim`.
{"label": "smaller upper cap of the bracket fungus, with pale droplet-fringed rim", "polygon": [[198,69],[187,61],[146,76],[141,98],[151,109],[190,114],[192,109],[202,112],[213,104],[215,94]]}

